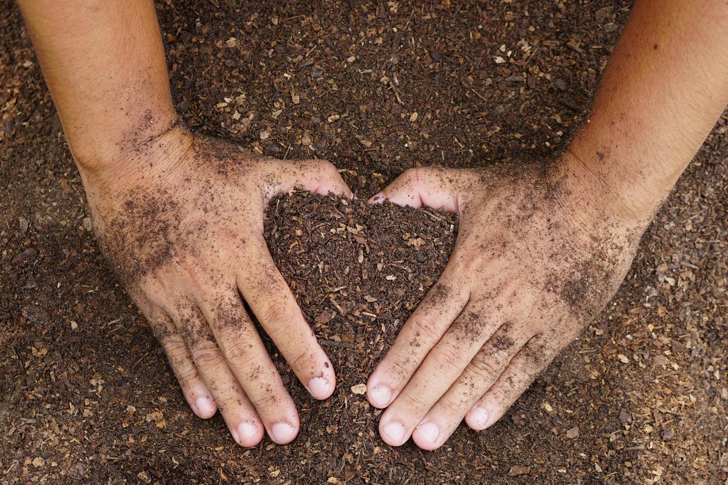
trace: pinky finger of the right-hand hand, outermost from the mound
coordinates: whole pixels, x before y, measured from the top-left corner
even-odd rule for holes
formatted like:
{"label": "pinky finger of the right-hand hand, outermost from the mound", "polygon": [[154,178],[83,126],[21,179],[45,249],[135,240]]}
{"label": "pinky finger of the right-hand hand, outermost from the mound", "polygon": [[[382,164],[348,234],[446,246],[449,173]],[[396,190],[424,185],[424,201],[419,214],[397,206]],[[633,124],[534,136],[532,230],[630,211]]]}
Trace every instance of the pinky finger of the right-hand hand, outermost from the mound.
{"label": "pinky finger of the right-hand hand, outermost from the mound", "polygon": [[[465,415],[470,428],[476,431],[490,428],[521,397],[555,356],[545,345],[545,336],[539,334],[519,350],[496,383]],[[534,352],[534,348],[539,348],[539,352]]]}

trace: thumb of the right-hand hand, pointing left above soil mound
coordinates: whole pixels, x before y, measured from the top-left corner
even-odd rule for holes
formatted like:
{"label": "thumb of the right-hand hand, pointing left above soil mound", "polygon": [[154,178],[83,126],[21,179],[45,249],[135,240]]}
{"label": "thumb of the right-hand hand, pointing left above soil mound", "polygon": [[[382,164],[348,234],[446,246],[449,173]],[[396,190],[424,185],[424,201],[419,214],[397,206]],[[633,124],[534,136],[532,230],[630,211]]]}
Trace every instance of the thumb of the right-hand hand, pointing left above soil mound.
{"label": "thumb of the right-hand hand, pointing left above soil mound", "polygon": [[407,169],[384,190],[371,199],[370,204],[378,204],[384,199],[415,209],[427,206],[458,212],[462,201],[462,188],[467,187],[466,171],[418,167]]}

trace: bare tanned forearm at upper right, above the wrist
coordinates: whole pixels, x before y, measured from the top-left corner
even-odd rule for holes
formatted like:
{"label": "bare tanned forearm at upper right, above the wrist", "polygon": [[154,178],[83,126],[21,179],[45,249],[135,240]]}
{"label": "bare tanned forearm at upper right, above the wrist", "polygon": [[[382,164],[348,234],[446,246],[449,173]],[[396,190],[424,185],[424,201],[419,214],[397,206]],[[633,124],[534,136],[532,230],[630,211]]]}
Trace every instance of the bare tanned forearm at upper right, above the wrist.
{"label": "bare tanned forearm at upper right, above the wrist", "polygon": [[635,2],[564,156],[622,217],[659,207],[724,110],[727,38],[724,0]]}

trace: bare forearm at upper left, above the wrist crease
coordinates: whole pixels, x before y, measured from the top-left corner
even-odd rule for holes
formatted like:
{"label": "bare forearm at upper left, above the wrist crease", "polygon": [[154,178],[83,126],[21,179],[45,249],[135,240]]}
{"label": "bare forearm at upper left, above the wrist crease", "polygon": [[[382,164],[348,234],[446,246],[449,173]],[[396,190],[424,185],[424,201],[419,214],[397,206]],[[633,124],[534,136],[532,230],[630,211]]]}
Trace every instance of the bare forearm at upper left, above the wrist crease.
{"label": "bare forearm at upper left, above the wrist crease", "polygon": [[175,123],[151,0],[19,0],[82,172]]}

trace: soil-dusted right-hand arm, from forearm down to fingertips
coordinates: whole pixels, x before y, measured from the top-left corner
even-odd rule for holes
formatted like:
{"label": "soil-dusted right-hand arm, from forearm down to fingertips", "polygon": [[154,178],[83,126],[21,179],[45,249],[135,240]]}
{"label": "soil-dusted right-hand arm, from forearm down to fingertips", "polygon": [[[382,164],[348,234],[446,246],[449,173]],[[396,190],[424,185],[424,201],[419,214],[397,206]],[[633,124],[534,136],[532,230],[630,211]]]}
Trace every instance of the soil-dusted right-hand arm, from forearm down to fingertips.
{"label": "soil-dusted right-hand arm, from forearm down to fingertips", "polygon": [[368,380],[389,406],[384,441],[435,449],[462,417],[492,425],[612,297],[728,102],[727,14],[720,0],[636,1],[555,164],[414,169],[376,196],[460,218],[448,266]]}

